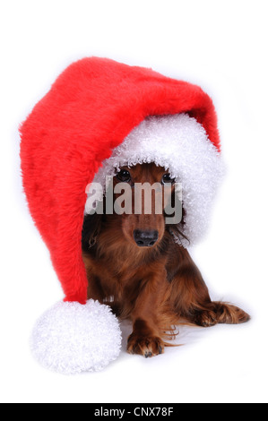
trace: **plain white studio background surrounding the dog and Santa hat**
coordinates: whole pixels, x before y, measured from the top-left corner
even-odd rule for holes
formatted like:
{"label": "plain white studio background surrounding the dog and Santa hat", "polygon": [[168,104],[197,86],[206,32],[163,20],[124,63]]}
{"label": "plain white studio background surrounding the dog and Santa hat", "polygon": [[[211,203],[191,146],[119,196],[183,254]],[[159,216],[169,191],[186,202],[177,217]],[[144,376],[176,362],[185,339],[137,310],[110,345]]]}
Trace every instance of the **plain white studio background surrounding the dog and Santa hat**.
{"label": "plain white studio background surrounding the dog and Santa hat", "polygon": [[[1,401],[267,402],[266,4],[1,0]],[[22,195],[17,129],[83,56],[152,67],[212,96],[227,176],[195,261],[212,297],[252,321],[184,328],[185,346],[165,355],[145,360],[123,348],[105,371],[65,377],[30,354],[34,322],[63,293]]]}

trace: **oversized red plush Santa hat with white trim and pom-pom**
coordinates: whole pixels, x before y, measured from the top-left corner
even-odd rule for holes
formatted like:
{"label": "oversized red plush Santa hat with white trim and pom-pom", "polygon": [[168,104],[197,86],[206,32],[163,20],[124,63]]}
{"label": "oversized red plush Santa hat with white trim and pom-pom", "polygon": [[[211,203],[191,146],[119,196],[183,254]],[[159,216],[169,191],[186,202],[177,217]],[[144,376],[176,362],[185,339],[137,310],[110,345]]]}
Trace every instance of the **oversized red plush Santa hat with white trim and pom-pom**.
{"label": "oversized red plush Santa hat with white trim and pom-pom", "polygon": [[[104,176],[113,175],[120,165],[137,162],[154,161],[169,168],[183,187],[184,234],[193,243],[202,236],[222,171],[215,109],[198,86],[151,69],[85,58],[57,78],[22,124],[21,135],[22,180],[30,213],[65,293],[65,303],[53,308],[54,320],[56,314],[59,320],[65,319],[67,307],[68,322],[79,313],[77,308],[82,308],[83,316],[85,308],[96,317],[103,315],[103,305],[99,310],[98,304],[87,302],[88,280],[82,262],[82,223],[84,212],[89,211],[85,192],[93,180],[103,184]],[[183,239],[177,241],[186,246]],[[99,351],[91,348],[81,364],[72,365],[73,354],[52,361],[48,348],[59,343],[58,332],[62,334],[65,323],[60,322],[56,330],[49,314],[39,321],[33,335],[37,357],[47,358],[44,364],[73,373],[102,368],[117,357],[119,351],[112,347],[110,355],[104,353],[96,361]],[[114,331],[108,330],[117,337],[119,348],[117,322],[109,311],[107,315],[108,323],[114,323]],[[78,325],[76,332],[83,329],[81,316]],[[51,331],[55,332],[52,339]],[[87,338],[90,334],[83,331]],[[65,349],[66,337],[61,339]],[[108,347],[101,343],[100,348]],[[80,350],[75,352],[77,356]],[[44,357],[48,354],[49,361]]]}

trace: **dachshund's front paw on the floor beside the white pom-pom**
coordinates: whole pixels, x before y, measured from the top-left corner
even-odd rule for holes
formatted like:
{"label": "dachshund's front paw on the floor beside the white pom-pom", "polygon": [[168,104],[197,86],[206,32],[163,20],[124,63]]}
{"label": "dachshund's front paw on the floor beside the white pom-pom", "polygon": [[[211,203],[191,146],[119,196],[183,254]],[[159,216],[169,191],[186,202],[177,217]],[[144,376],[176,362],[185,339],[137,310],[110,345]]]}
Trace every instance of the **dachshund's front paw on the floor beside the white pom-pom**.
{"label": "dachshund's front paw on the floor beside the white pom-pom", "polygon": [[127,341],[127,352],[138,354],[145,358],[158,356],[164,352],[164,342],[158,337],[144,337],[132,333]]}

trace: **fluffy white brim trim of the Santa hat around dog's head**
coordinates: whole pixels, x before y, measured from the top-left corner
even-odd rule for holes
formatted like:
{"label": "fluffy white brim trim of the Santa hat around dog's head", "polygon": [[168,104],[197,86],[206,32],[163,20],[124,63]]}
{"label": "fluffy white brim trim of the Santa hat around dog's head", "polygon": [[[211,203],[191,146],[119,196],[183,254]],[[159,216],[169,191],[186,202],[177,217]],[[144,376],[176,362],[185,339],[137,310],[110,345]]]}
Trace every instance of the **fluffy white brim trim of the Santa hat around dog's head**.
{"label": "fluffy white brim trim of the Santa hat around dog's head", "polygon": [[[186,217],[181,231],[191,245],[195,244],[207,228],[212,200],[223,176],[220,153],[195,118],[186,114],[151,116],[113,150],[93,182],[104,187],[106,176],[114,176],[118,168],[146,162],[166,168],[182,184]],[[85,212],[90,211],[86,205]],[[176,240],[189,245],[184,238]]]}

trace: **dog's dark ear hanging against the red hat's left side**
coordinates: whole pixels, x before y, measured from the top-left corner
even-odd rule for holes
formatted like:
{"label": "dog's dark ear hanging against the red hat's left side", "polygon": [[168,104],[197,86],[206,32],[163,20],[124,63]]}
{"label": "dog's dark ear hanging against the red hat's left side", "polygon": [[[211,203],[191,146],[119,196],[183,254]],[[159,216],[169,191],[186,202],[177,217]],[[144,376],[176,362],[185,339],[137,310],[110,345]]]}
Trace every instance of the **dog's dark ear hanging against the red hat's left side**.
{"label": "dog's dark ear hanging against the red hat's left side", "polygon": [[96,244],[101,229],[102,215],[86,215],[82,225],[82,251],[88,252]]}

